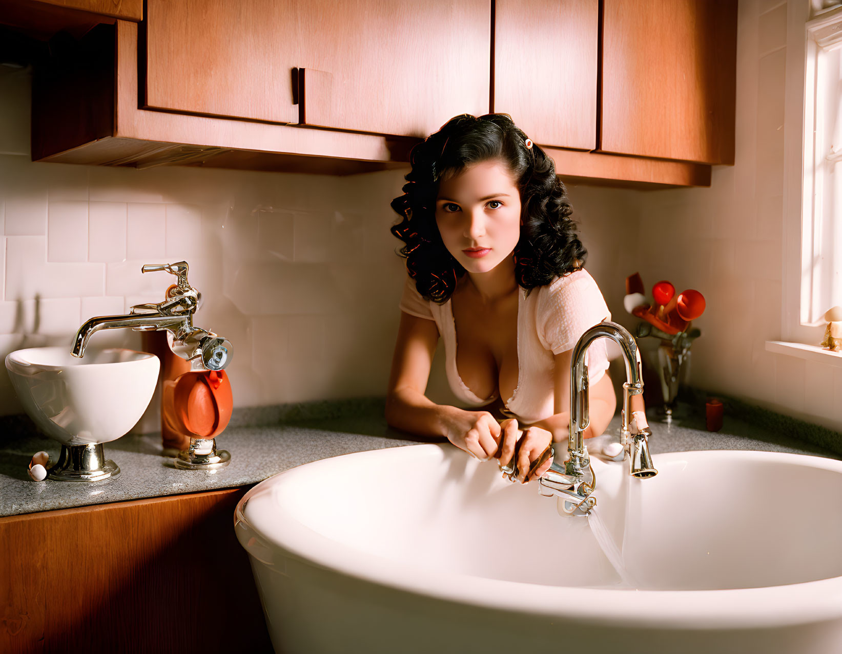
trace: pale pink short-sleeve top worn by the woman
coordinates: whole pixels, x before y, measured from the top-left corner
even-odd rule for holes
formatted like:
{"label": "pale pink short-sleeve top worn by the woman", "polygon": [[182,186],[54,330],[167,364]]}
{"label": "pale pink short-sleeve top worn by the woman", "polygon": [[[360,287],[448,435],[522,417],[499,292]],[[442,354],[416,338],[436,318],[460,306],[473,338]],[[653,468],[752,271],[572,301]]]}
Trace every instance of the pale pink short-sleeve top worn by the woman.
{"label": "pale pink short-sleeve top worn by the woman", "polygon": [[[546,286],[536,287],[527,298],[523,288],[518,296],[518,383],[512,397],[504,402],[504,414],[525,425],[555,413],[553,355],[573,349],[585,330],[611,313],[600,287],[586,270],[556,277]],[[403,287],[400,309],[410,315],[434,320],[445,343],[445,372],[450,389],[469,407],[480,407],[498,398],[495,391],[482,399],[462,382],[456,369],[456,324],[450,299],[444,304],[425,300],[411,277]],[[598,382],[608,369],[606,340],[597,339],[585,354],[589,383]]]}

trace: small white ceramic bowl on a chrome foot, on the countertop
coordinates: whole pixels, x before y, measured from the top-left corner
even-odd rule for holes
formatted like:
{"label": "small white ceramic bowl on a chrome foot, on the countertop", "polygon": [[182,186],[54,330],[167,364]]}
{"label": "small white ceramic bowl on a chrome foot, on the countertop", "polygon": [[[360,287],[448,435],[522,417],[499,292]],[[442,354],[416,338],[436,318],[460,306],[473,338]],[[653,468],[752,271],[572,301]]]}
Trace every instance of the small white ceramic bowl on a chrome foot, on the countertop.
{"label": "small white ceramic bowl on a chrome foot, on the countertop", "polygon": [[157,356],[134,350],[32,347],[6,356],[24,409],[46,435],[65,446],[107,443],[146,410],[157,383]]}

